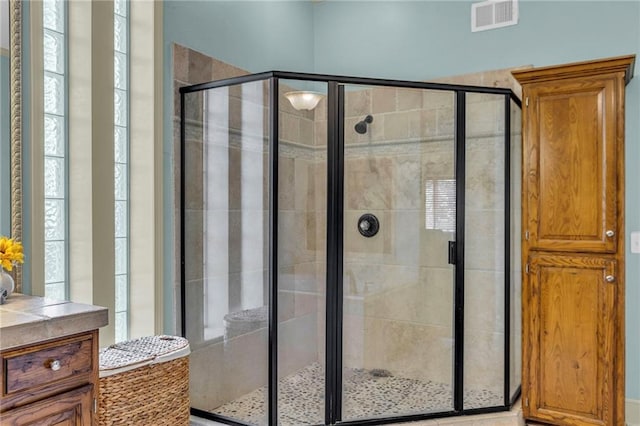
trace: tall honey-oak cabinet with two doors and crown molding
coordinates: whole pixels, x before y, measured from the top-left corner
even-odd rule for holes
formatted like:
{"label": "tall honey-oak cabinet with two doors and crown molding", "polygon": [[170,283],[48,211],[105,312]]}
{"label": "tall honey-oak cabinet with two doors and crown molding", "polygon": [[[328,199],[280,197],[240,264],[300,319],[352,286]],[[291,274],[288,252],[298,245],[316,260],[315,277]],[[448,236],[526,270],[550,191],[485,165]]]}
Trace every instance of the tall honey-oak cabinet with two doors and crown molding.
{"label": "tall honey-oak cabinet with two doors and crown molding", "polygon": [[634,60],[514,72],[528,420],[624,425],[624,96]]}

